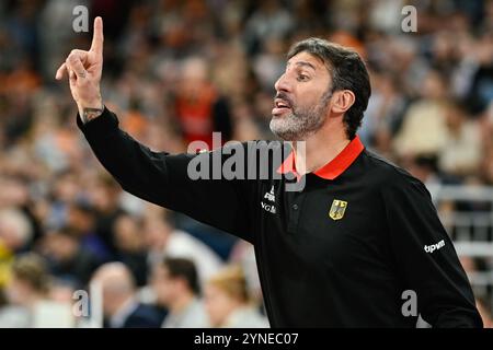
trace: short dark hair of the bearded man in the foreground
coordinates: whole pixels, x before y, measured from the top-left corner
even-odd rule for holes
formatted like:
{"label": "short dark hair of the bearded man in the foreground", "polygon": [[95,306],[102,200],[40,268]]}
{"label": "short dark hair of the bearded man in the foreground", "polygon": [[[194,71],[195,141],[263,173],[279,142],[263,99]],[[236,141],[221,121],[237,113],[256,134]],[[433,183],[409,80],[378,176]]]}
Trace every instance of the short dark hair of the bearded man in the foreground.
{"label": "short dark hair of the bearded man in the foreground", "polygon": [[351,90],[354,93],[355,102],[343,119],[347,137],[354,139],[371,94],[368,71],[362,57],[351,48],[317,37],[294,44],[287,58],[299,52],[308,52],[324,62],[332,77],[332,91]]}

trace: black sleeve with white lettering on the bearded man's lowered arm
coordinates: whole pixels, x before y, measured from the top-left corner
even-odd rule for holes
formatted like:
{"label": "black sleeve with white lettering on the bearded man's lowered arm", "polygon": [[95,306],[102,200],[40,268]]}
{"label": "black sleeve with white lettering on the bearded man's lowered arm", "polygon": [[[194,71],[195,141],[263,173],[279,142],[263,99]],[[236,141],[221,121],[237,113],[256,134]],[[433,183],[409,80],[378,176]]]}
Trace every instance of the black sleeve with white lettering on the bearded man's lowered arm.
{"label": "black sleeve with white lettering on the bearded man's lowered arm", "polygon": [[390,245],[398,273],[416,292],[423,319],[433,327],[482,327],[470,283],[429,192],[409,175],[395,177],[382,189]]}

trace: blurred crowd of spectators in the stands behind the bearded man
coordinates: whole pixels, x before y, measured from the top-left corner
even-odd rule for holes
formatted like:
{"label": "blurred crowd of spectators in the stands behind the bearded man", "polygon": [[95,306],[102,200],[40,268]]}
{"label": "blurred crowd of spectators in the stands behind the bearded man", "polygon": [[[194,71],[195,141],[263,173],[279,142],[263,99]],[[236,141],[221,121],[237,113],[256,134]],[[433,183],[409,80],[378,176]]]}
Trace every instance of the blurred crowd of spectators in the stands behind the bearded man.
{"label": "blurred crowd of spectators in the stands behind the bearded man", "polygon": [[[89,33],[72,28],[79,4]],[[105,104],[172,153],[213,131],[273,139],[290,44],[356,48],[372,84],[359,136],[425,183],[492,326],[493,1],[2,0],[0,327],[268,326],[252,247],[123,192],[77,129],[54,74],[95,15]],[[91,287],[88,313],[76,291]]]}

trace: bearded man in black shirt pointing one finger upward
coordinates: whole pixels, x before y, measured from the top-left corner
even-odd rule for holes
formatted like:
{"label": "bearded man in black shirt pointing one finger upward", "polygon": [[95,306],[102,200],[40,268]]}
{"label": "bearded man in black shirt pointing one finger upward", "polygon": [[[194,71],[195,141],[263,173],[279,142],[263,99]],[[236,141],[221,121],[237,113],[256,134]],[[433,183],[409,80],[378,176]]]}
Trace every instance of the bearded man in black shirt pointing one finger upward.
{"label": "bearded man in black shirt pointing one finger upward", "polygon": [[267,156],[275,171],[253,178],[192,178],[192,162],[214,173],[233,152],[153,152],[122,131],[100,93],[102,67],[98,18],[91,49],[72,50],[57,71],[69,74],[94,154],[130,194],[251,242],[272,326],[414,327],[419,315],[433,327],[482,326],[429,192],[356,135],[370,96],[357,52],[320,38],[294,44],[271,121],[290,150],[271,148],[282,161]]}

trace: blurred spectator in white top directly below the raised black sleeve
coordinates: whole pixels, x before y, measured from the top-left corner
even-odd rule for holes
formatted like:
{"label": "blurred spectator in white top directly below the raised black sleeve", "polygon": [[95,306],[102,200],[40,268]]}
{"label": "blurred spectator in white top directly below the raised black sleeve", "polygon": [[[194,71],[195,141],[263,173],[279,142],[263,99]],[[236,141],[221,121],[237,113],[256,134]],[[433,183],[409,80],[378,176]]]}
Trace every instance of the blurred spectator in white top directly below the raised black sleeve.
{"label": "blurred spectator in white top directly below the raised black sleeve", "polygon": [[167,221],[163,213],[148,217],[144,223],[144,235],[148,248],[148,264],[160,264],[164,257],[188,258],[195,262],[200,281],[216,273],[221,261],[203,242],[188,233],[176,230]]}

